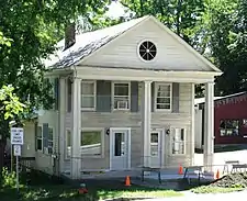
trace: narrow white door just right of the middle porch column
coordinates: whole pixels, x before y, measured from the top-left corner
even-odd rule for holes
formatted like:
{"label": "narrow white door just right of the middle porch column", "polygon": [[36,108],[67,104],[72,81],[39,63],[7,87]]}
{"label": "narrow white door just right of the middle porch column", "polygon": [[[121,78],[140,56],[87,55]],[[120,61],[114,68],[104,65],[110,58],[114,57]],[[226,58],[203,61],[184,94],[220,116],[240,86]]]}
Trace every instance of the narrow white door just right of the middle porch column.
{"label": "narrow white door just right of the middle porch column", "polygon": [[158,168],[162,166],[162,130],[151,131],[150,133],[150,167]]}

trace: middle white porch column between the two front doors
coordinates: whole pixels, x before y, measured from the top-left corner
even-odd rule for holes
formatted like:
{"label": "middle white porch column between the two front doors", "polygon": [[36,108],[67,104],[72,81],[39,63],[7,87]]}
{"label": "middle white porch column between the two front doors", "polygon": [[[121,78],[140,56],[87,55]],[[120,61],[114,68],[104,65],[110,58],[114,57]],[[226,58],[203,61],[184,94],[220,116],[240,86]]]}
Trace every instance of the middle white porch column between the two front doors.
{"label": "middle white porch column between the two front doors", "polygon": [[144,81],[142,97],[143,165],[150,165],[151,81]]}

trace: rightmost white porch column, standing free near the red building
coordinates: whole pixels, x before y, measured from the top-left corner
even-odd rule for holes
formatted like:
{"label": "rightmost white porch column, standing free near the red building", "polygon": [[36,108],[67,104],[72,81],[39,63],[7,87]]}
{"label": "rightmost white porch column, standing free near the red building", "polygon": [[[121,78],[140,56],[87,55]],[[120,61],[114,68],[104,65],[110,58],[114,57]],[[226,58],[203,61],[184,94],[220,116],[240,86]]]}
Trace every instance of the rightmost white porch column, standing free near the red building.
{"label": "rightmost white porch column, standing free near the red building", "polygon": [[212,171],[214,155],[214,82],[205,85],[203,154],[203,164],[209,171]]}

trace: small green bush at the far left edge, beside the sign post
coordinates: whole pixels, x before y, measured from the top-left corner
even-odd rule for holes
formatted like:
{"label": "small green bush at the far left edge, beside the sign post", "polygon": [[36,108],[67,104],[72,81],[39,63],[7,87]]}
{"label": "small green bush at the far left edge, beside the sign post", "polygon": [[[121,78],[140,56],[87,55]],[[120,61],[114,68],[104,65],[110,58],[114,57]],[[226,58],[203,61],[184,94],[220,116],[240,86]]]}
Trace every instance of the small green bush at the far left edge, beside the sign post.
{"label": "small green bush at the far left edge, beside the sign post", "polygon": [[16,185],[16,174],[10,172],[7,168],[2,168],[1,186],[2,188],[14,188]]}

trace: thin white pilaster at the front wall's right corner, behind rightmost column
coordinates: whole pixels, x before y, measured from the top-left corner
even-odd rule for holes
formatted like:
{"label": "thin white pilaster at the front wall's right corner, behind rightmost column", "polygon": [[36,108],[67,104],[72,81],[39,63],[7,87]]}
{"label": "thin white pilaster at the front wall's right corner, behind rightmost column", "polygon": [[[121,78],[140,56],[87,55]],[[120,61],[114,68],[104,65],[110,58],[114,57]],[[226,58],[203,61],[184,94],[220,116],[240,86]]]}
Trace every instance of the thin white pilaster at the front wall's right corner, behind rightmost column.
{"label": "thin white pilaster at the front wall's right corner, behind rightmost column", "polygon": [[191,166],[194,165],[194,143],[195,143],[195,126],[194,126],[194,83],[191,83]]}

